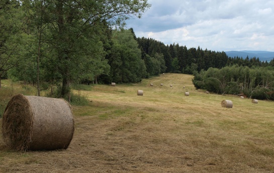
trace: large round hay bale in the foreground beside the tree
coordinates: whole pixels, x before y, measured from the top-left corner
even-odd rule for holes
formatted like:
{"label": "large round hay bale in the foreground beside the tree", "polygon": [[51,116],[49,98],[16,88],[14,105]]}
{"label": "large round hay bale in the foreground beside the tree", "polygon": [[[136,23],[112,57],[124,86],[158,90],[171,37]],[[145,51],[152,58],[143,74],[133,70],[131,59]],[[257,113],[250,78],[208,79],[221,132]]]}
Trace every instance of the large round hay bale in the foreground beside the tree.
{"label": "large round hay bale in the foreground beside the tree", "polygon": [[16,95],[3,115],[3,139],[16,150],[66,149],[73,132],[73,115],[63,99]]}

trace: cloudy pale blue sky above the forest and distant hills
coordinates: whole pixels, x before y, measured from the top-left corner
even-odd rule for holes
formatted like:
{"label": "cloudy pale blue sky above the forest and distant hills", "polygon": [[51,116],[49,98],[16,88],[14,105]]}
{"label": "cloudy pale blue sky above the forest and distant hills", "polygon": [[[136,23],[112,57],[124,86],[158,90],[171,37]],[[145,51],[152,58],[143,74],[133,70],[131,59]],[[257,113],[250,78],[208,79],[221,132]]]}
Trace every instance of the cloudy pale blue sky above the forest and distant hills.
{"label": "cloudy pale blue sky above the forest and distant hills", "polygon": [[212,51],[274,51],[274,0],[148,0],[136,37]]}

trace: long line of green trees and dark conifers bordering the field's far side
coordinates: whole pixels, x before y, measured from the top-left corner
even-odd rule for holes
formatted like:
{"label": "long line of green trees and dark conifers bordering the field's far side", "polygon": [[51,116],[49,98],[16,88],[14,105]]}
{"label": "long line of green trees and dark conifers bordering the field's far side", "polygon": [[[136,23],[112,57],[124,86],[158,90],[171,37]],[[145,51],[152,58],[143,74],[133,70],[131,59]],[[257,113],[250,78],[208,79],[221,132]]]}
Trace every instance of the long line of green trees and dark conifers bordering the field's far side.
{"label": "long line of green trees and dark conifers bordering the field's far side", "polygon": [[163,72],[202,75],[235,64],[273,64],[136,38],[125,21],[149,7],[134,0],[1,1],[0,88],[8,77],[37,85],[38,95],[50,88],[51,97],[67,98],[71,83],[140,82]]}

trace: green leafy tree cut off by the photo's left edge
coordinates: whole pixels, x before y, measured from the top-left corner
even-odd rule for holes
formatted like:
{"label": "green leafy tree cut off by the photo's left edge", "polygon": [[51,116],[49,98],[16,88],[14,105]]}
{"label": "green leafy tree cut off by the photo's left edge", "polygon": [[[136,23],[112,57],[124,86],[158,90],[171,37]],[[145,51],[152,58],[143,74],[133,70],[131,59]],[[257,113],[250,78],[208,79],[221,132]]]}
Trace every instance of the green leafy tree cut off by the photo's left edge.
{"label": "green leafy tree cut off by the photo's left edge", "polygon": [[25,52],[19,6],[17,1],[0,1],[0,88],[3,75],[19,65]]}

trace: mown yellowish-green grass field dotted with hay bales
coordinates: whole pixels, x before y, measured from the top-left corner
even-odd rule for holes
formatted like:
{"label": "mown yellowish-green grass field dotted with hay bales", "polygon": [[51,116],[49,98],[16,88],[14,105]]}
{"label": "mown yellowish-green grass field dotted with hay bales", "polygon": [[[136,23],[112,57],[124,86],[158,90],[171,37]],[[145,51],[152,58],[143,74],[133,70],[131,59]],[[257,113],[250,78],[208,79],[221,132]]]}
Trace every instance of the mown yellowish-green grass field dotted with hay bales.
{"label": "mown yellowish-green grass field dotted with hay bales", "polygon": [[80,94],[90,102],[72,107],[75,132],[66,150],[17,152],[1,135],[0,171],[273,173],[274,102],[205,94],[192,78],[166,73],[85,87]]}

